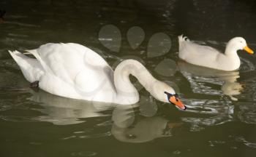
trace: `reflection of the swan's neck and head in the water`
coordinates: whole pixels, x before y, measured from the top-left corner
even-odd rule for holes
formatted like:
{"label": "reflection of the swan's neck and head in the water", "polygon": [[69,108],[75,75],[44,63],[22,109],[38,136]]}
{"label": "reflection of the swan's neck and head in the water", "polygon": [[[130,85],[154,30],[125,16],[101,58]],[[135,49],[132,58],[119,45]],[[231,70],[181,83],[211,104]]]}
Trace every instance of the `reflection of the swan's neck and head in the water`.
{"label": "reflection of the swan's neck and head in the water", "polygon": [[[150,115],[154,113],[155,108],[148,107],[146,111],[140,108],[140,115],[147,112]],[[183,124],[181,121],[170,121],[162,116],[135,115],[135,109],[132,108],[132,105],[118,105],[113,110],[111,133],[117,140],[121,142],[148,142],[159,137],[170,137],[172,136],[172,129]]]}

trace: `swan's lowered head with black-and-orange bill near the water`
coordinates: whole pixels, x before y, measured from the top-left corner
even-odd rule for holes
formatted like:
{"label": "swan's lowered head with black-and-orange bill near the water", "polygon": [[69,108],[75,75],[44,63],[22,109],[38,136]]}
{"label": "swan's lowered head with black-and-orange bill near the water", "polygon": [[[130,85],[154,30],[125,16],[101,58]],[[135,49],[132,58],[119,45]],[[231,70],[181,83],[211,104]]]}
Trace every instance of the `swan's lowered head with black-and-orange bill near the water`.
{"label": "swan's lowered head with black-and-orange bill near the water", "polygon": [[178,94],[176,94],[171,86],[159,81],[155,86],[153,86],[153,88],[154,94],[152,95],[157,98],[157,100],[171,103],[173,105],[176,105],[176,107],[181,108],[182,110],[187,109],[187,107],[179,99]]}

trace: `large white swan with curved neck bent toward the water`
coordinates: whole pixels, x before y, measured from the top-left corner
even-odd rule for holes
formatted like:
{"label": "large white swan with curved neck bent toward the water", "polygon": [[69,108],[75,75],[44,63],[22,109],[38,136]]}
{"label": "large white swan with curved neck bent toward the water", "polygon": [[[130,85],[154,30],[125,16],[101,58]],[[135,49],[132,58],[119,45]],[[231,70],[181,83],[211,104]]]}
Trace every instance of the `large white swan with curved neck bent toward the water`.
{"label": "large white swan with curved neck bent toward the water", "polygon": [[136,60],[122,61],[113,72],[102,57],[80,44],[45,44],[29,50],[36,59],[18,51],[9,52],[25,78],[31,83],[39,81],[39,88],[51,94],[78,100],[135,104],[139,94],[129,80],[131,74],[157,100],[186,109],[172,87],[154,79]]}

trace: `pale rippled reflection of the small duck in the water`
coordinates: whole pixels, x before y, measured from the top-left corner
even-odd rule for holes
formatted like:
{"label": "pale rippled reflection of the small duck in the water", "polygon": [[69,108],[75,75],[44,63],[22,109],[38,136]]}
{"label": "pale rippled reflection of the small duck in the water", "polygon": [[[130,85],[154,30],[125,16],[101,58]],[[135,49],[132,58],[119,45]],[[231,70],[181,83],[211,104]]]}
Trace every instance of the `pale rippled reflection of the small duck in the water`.
{"label": "pale rippled reflection of the small duck in the water", "polygon": [[[192,91],[199,94],[225,94],[231,100],[238,100],[236,97],[241,94],[243,87],[237,81],[239,71],[218,71],[204,68],[197,65],[186,63],[182,60],[178,62],[178,69],[183,76],[189,81]],[[213,89],[211,85],[221,86],[221,91]]]}

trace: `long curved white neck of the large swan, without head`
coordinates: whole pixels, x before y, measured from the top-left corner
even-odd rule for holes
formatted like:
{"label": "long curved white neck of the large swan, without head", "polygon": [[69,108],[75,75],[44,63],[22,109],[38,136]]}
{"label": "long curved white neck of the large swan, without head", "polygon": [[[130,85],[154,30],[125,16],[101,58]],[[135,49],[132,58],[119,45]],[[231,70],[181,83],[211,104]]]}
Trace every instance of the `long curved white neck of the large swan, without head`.
{"label": "long curved white neck of the large swan, without head", "polygon": [[122,61],[114,72],[114,84],[117,93],[116,102],[120,104],[134,104],[139,101],[138,91],[129,80],[129,75],[135,76],[148,92],[151,92],[151,85],[157,81],[138,61]]}

